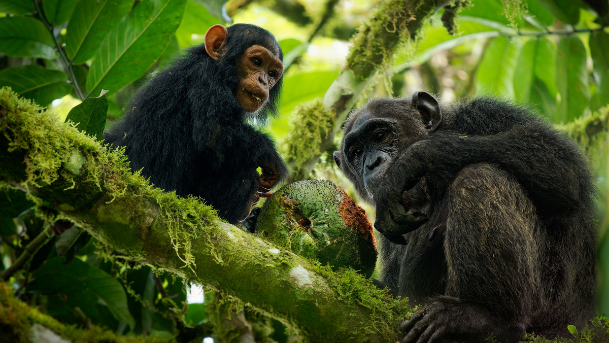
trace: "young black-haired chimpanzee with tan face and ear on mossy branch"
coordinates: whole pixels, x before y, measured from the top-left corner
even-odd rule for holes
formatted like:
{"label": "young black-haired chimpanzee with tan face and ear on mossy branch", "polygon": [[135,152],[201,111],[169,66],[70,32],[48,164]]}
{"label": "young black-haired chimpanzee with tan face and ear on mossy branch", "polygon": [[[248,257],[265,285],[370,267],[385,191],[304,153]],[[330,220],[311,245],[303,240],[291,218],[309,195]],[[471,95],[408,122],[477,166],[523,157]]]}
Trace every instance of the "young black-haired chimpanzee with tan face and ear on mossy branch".
{"label": "young black-haired chimpanzee with tan face and ear on mossy branch", "polygon": [[239,224],[287,174],[273,141],[246,122],[276,113],[282,58],[275,37],[261,27],[212,26],[204,44],[135,94],[105,141],[125,146],[131,168],[156,186],[203,197]]}

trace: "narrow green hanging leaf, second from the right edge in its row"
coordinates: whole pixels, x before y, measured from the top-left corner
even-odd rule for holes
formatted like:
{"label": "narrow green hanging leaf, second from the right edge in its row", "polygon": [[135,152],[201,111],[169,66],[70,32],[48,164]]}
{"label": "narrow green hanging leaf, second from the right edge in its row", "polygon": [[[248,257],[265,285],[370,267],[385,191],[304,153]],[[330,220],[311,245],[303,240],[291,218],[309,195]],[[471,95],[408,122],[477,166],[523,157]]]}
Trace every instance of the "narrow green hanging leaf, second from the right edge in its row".
{"label": "narrow green hanging leaf, second from the right edge in its row", "polygon": [[586,48],[577,35],[560,38],[556,57],[556,84],[560,100],[554,122],[567,123],[579,118],[590,101]]}

